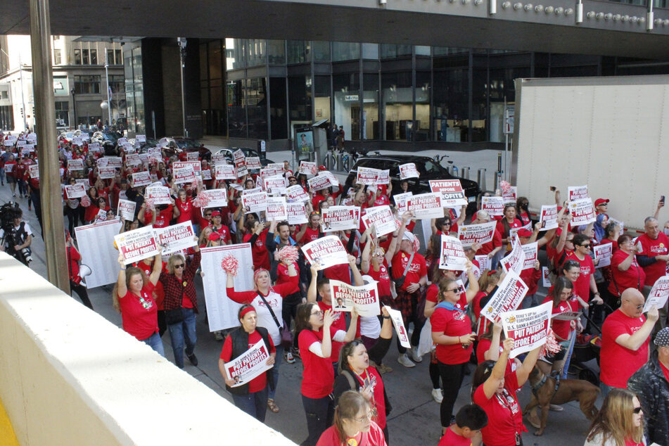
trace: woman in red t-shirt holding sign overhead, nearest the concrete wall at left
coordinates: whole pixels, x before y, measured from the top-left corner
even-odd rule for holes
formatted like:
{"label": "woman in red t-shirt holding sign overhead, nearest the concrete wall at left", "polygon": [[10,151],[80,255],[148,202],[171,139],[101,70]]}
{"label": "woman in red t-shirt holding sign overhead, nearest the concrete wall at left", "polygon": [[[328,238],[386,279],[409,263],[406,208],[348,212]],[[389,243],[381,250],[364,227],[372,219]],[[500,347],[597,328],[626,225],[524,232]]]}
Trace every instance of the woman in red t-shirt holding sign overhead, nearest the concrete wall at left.
{"label": "woman in red t-shirt holding sign overhead, nearest the concrete wall at left", "polygon": [[[158,248],[162,251],[161,248]],[[123,330],[153,348],[165,357],[163,340],[158,333],[158,307],[153,302],[151,293],[158,283],[163,265],[163,256],[158,252],[153,260],[153,270],[148,278],[141,269],[128,267],[126,273],[125,257],[119,253],[121,269],[112,293],[113,306],[121,313]]]}

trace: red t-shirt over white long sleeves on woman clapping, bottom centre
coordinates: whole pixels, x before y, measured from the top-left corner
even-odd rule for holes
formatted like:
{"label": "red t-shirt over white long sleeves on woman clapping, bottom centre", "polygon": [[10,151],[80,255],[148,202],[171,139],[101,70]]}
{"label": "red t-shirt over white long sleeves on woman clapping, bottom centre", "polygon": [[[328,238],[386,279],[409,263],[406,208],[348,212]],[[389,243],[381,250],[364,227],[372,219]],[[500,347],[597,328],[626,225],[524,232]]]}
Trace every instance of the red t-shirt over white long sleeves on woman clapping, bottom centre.
{"label": "red t-shirt over white long sleeves on woman clapping, bottom centre", "polygon": [[[336,332],[337,330],[334,326],[331,326],[330,336],[333,336]],[[302,395],[314,400],[330,395],[334,383],[334,369],[332,368],[331,358],[321,358],[309,351],[313,343],[322,342],[323,329],[319,331],[302,330],[300,331],[300,336],[298,336],[300,356],[302,357],[302,365],[304,365],[304,371],[302,371]]]}

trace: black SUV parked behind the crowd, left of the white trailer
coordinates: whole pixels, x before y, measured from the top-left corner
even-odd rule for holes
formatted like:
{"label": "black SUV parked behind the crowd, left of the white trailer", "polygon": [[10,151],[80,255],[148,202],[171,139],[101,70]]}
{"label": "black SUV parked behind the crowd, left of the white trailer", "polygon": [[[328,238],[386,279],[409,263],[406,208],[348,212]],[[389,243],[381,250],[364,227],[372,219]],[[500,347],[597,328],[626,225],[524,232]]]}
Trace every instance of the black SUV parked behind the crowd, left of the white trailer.
{"label": "black SUV parked behind the crowd, left of the white trailer", "polygon": [[393,195],[401,193],[400,189],[400,165],[414,163],[416,169],[420,172],[420,178],[409,178],[409,191],[414,194],[431,192],[431,179],[459,179],[465,195],[469,199],[467,214],[473,214],[476,211],[476,197],[480,193],[478,183],[471,179],[454,177],[452,174],[436,163],[435,160],[427,156],[415,155],[369,155],[357,159],[353,169],[349,172],[344,184],[344,191],[355,185],[358,167],[371,167],[373,169],[390,170],[390,181],[393,183]]}

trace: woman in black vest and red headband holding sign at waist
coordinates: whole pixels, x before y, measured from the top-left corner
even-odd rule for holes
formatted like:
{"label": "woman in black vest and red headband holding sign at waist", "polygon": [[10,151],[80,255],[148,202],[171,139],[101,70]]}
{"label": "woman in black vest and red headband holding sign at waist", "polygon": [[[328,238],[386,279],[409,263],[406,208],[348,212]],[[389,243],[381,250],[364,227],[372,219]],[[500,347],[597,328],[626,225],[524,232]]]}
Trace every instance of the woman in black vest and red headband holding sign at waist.
{"label": "woman in black vest and red headband holding sign at waist", "polygon": [[267,382],[272,380],[272,370],[256,376],[242,386],[233,387],[240,382],[239,376],[231,375],[231,370],[226,367],[226,364],[246,353],[253,345],[262,342],[269,353],[265,364],[271,366],[274,365],[276,358],[276,348],[274,348],[272,337],[267,333],[267,329],[257,326],[257,313],[253,306],[239,307],[237,319],[241,326],[231,331],[225,338],[221,356],[218,359],[218,369],[225,381],[225,388],[232,394],[236,407],[264,423],[265,414],[267,414]]}

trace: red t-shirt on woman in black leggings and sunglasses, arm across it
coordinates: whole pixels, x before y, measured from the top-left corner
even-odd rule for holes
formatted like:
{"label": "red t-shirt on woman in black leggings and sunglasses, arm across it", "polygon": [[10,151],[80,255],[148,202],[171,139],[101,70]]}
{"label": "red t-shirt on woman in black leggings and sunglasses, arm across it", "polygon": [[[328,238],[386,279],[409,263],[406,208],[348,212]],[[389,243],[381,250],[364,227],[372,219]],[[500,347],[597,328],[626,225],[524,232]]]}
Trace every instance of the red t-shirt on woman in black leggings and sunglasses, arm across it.
{"label": "red t-shirt on woman in black leggings and sunglasses, arm across it", "polygon": [[[465,336],[471,333],[471,320],[465,312],[437,308],[430,317],[433,333],[446,336]],[[462,348],[463,344],[437,344],[437,359],[442,364],[462,364],[469,361],[473,345]]]}

